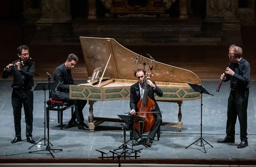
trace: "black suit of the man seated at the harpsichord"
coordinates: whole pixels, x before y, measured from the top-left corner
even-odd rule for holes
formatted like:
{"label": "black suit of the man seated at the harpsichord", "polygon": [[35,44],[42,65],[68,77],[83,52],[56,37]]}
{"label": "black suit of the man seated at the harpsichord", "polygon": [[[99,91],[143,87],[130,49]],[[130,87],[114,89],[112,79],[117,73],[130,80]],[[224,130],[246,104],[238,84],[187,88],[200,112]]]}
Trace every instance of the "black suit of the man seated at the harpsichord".
{"label": "black suit of the man seated at the harpsichord", "polygon": [[69,98],[69,85],[77,85],[72,79],[71,70],[67,69],[65,63],[58,66],[54,70],[53,81],[60,82],[57,90],[52,90],[50,93],[50,98],[54,100],[60,100],[63,102],[68,102],[70,104],[75,104],[75,112],[72,115],[72,119],[77,119],[78,122],[84,121],[83,108],[87,103],[86,100],[75,100]]}

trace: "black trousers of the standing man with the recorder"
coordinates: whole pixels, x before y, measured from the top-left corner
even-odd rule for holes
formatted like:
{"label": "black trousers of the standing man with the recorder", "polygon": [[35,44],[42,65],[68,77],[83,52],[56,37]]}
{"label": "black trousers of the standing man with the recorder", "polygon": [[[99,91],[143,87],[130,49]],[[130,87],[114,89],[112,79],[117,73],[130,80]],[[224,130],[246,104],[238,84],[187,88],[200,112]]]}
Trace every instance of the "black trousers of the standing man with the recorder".
{"label": "black trousers of the standing man with the recorder", "polygon": [[235,125],[238,116],[240,124],[240,139],[247,140],[247,106],[249,89],[245,91],[231,90],[227,104],[227,137],[234,138]]}

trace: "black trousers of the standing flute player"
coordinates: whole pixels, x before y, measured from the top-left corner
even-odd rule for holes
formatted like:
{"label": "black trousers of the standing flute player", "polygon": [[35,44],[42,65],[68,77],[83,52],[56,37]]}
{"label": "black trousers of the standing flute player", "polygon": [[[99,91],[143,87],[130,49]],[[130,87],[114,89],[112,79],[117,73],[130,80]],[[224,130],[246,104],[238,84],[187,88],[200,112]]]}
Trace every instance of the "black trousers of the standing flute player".
{"label": "black trousers of the standing flute player", "polygon": [[13,90],[12,93],[12,106],[13,106],[13,116],[14,116],[14,129],[15,135],[21,136],[21,115],[22,115],[22,104],[25,113],[26,122],[26,137],[32,137],[33,131],[33,91],[28,90],[26,92],[19,92]]}

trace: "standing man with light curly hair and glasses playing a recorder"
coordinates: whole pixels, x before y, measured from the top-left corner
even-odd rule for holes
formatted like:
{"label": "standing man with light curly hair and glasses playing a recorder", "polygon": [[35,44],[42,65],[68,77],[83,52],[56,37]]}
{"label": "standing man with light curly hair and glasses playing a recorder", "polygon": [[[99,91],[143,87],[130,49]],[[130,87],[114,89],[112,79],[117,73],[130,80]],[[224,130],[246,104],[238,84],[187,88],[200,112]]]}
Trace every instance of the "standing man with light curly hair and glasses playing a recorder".
{"label": "standing man with light curly hair and glasses playing a recorder", "polygon": [[[249,98],[250,82],[250,64],[242,57],[242,48],[231,45],[229,47],[230,67],[227,67],[225,74],[220,76],[223,81],[230,80],[231,91],[227,104],[227,127],[226,137],[218,140],[218,143],[234,143],[236,118],[240,123],[241,143],[237,148],[248,146],[247,141],[247,106]],[[224,77],[225,75],[225,77]]]}

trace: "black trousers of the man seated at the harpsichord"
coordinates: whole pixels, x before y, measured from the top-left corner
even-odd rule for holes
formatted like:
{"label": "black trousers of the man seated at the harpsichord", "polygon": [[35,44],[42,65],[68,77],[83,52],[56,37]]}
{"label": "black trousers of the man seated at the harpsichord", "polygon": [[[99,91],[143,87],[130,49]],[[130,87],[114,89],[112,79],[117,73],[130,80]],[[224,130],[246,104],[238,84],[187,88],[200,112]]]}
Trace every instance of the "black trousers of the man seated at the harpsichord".
{"label": "black trousers of the man seated at the harpsichord", "polygon": [[[71,119],[77,120],[78,122],[84,121],[85,119],[83,117],[83,108],[85,107],[87,101],[86,100],[69,99],[69,92],[62,92],[62,93],[63,94],[61,96],[62,97],[64,96],[64,99],[59,99],[59,100],[75,105],[75,111],[74,111]],[[54,99],[54,100],[57,100],[57,99]]]}

